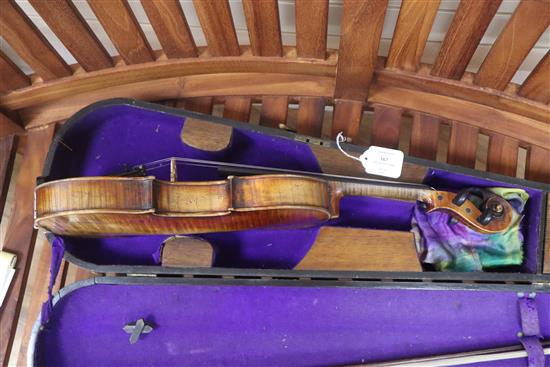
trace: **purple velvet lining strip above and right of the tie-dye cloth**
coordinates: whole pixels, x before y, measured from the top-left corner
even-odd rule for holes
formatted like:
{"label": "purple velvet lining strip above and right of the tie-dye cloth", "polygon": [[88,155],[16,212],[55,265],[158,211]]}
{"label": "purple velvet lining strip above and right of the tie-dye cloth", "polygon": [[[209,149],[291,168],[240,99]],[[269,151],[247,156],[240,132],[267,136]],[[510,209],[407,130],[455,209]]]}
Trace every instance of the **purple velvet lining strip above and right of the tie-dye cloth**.
{"label": "purple velvet lining strip above and right of the tie-dye cloth", "polygon": [[432,187],[437,187],[439,190],[449,191],[458,191],[466,187],[516,187],[527,191],[529,200],[525,205],[524,213],[526,213],[526,215],[522,221],[524,260],[521,271],[525,273],[536,273],[540,238],[541,213],[539,208],[541,207],[542,201],[542,192],[540,190],[434,169],[429,170],[424,179],[424,183]]}

